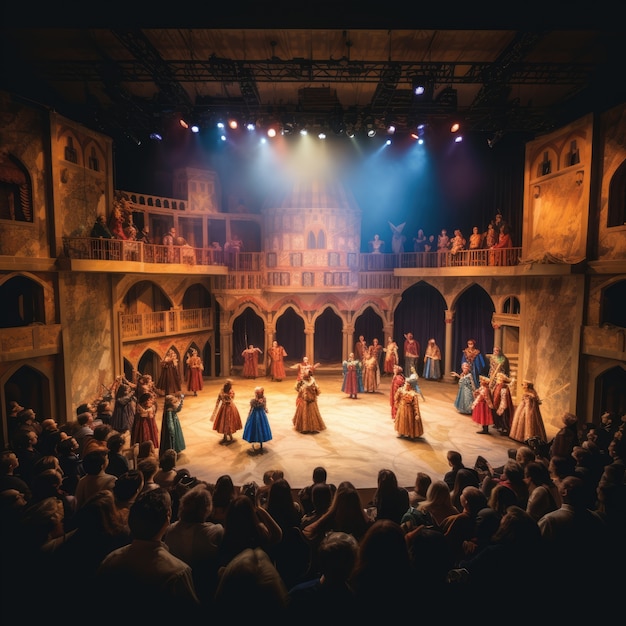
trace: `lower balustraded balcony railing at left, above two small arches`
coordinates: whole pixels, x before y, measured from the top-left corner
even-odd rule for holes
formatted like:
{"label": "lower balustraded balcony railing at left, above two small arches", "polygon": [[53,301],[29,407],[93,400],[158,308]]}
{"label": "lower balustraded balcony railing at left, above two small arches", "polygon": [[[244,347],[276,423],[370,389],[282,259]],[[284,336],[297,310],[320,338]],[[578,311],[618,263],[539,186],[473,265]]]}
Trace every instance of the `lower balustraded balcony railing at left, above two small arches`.
{"label": "lower balustraded balcony railing at left, above two small arches", "polygon": [[149,313],[120,313],[122,339],[142,339],[212,330],[211,309],[181,309]]}

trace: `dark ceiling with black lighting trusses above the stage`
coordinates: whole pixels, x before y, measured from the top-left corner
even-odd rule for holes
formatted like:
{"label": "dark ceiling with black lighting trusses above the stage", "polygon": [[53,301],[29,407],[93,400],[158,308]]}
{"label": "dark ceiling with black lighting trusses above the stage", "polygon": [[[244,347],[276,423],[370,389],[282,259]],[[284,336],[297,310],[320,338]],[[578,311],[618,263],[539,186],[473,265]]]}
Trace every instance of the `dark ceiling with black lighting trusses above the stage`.
{"label": "dark ceiling with black lighting trusses above the stage", "polygon": [[623,35],[605,28],[68,23],[5,26],[0,88],[116,140],[226,114],[335,132],[458,116],[466,130],[535,136],[626,101]]}

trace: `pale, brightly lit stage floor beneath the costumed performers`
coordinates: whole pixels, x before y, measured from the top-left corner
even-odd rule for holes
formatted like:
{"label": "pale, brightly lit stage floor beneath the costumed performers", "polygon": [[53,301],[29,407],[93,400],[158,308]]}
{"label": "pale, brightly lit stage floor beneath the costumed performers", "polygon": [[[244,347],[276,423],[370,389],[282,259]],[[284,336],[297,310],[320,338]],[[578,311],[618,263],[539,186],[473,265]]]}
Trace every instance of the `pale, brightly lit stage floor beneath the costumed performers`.
{"label": "pale, brightly lit stage floor beneath the costumed performers", "polygon": [[[507,460],[509,448],[519,447],[493,429],[488,436],[476,434],[478,425],[453,406],[456,383],[420,379],[426,398],[426,401],[420,399],[425,432],[423,441],[409,441],[399,438],[394,430],[388,377],[382,378],[377,393],[350,399],[341,392],[340,372],[318,372],[316,379],[321,390],[318,405],[327,429],[317,434],[301,434],[293,428],[295,372],[289,371],[282,382],[239,376],[231,379],[235,404],[244,424],[254,388],[258,385],[265,388],[273,439],[263,444],[263,454],[251,454],[252,446],[241,438],[243,430],[234,434],[232,444],[220,444],[222,436],[213,430],[210,417],[225,378],[205,379],[204,389],[197,397],[184,391],[179,417],[187,448],[181,453],[177,467],[185,467],[208,482],[229,474],[236,485],[252,480],[261,484],[266,470],[281,469],[295,489],[310,484],[313,468],[322,465],[328,471],[329,482],[335,484],[349,480],[359,489],[373,488],[378,471],[386,468],[396,473],[400,485],[408,487],[414,484],[419,471],[428,473],[434,480],[443,478],[449,469],[448,450],[458,450],[466,465],[473,466],[480,454],[498,466]],[[159,406],[163,406],[162,398]]]}

